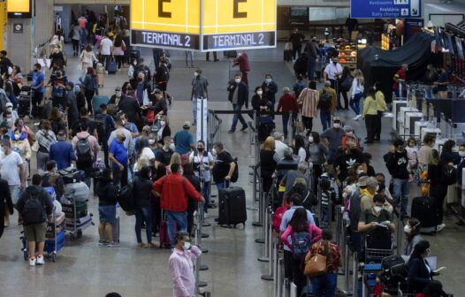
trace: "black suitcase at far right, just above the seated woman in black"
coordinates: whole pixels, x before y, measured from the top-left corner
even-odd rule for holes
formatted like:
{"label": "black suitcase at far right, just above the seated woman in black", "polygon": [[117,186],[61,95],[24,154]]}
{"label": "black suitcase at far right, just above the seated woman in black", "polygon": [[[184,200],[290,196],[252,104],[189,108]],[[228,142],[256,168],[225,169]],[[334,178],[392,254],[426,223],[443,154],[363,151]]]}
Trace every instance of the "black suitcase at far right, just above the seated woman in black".
{"label": "black suitcase at far right, just above the seated woman in black", "polygon": [[435,199],[428,196],[415,197],[412,201],[411,217],[416,217],[420,221],[420,232],[436,232],[439,216]]}

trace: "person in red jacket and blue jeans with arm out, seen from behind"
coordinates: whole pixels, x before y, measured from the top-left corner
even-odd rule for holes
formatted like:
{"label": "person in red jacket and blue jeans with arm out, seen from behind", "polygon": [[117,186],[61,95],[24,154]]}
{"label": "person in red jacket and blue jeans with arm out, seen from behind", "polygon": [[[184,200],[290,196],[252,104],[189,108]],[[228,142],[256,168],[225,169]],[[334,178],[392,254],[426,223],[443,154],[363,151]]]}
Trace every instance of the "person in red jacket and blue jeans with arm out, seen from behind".
{"label": "person in red jacket and blue jeans with arm out, seen from behind", "polygon": [[197,202],[205,202],[194,186],[180,175],[180,168],[181,164],[172,164],[172,173],[156,180],[152,187],[153,194],[161,196],[160,204],[168,221],[168,236],[172,247],[175,244],[175,227],[178,227],[179,232],[187,231],[187,196]]}

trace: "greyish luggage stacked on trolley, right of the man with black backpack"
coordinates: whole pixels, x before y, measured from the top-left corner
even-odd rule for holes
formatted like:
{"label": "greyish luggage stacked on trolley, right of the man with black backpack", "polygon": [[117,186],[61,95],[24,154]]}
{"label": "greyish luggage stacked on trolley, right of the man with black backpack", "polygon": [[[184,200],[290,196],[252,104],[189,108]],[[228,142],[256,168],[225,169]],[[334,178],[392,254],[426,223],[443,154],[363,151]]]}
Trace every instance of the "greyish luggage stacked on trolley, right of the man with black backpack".
{"label": "greyish luggage stacked on trolley, right of the man with black backpack", "polygon": [[66,168],[58,173],[65,182],[65,194],[61,198],[65,212],[65,231],[74,240],[82,235],[92,223],[92,214],[88,212],[90,189],[82,182],[83,172],[74,168]]}

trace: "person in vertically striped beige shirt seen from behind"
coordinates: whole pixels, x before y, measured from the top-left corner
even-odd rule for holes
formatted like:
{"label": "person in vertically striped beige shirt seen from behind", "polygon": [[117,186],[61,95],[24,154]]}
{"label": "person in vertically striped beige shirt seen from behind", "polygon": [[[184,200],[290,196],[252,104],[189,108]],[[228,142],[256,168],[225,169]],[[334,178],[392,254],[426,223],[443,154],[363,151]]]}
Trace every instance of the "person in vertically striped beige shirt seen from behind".
{"label": "person in vertically striped beige shirt seen from behind", "polygon": [[305,129],[312,131],[313,118],[317,118],[316,109],[320,100],[320,92],[316,90],[316,81],[309,82],[309,88],[304,88],[297,98],[297,104],[301,109],[302,122]]}

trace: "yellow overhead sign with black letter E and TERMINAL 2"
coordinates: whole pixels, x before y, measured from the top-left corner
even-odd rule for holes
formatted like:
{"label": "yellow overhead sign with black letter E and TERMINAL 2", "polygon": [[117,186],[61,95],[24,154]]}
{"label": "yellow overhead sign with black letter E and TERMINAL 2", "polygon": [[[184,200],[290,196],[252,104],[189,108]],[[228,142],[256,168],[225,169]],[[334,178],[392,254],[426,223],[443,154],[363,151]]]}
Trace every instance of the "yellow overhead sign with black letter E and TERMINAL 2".
{"label": "yellow overhead sign with black letter E and TERMINAL 2", "polygon": [[275,47],[276,0],[131,0],[131,38],[185,50]]}

